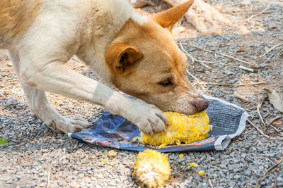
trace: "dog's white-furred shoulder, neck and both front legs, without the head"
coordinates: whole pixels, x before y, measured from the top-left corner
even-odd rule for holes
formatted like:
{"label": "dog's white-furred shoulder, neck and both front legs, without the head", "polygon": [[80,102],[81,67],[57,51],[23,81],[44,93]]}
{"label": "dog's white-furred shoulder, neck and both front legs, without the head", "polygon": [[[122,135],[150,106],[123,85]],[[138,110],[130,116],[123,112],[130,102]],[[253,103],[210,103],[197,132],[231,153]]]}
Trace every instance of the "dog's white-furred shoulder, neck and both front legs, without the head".
{"label": "dog's white-furred shoulder, neck and both front legs, without the head", "polygon": [[162,131],[167,118],[158,108],[135,101],[105,84],[68,68],[76,54],[110,83],[105,50],[126,21],[146,17],[123,0],[45,0],[28,32],[9,49],[31,111],[56,132],[76,132],[85,120],[65,118],[48,104],[45,91],[100,104],[138,125],[143,132]]}

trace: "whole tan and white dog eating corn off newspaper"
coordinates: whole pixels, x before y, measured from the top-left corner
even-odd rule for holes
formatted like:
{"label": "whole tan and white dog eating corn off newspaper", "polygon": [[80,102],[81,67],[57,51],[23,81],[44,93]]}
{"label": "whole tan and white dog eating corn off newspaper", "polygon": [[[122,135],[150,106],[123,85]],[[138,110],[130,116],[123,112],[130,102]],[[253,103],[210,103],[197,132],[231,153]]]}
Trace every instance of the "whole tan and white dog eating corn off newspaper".
{"label": "whole tan and white dog eating corn off newspaper", "polygon": [[[88,122],[54,111],[45,91],[100,104],[145,133],[161,132],[168,124],[163,111],[193,114],[208,106],[166,29],[192,3],[149,18],[126,0],[1,0],[0,48],[8,49],[33,115],[55,132],[77,132]],[[74,55],[110,87],[64,65]]]}

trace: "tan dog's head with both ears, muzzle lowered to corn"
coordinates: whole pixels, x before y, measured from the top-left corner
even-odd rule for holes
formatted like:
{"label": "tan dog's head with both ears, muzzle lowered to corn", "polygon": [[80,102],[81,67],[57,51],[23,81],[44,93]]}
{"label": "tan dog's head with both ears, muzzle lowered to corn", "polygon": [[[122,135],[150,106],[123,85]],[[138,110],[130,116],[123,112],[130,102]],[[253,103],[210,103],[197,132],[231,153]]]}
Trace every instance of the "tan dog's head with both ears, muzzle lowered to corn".
{"label": "tan dog's head with both ears, muzzle lowered to corn", "polygon": [[117,89],[163,111],[194,114],[207,108],[208,101],[187,80],[187,57],[170,32],[192,2],[153,15],[142,25],[127,21],[105,54]]}

